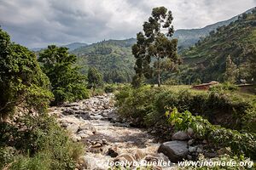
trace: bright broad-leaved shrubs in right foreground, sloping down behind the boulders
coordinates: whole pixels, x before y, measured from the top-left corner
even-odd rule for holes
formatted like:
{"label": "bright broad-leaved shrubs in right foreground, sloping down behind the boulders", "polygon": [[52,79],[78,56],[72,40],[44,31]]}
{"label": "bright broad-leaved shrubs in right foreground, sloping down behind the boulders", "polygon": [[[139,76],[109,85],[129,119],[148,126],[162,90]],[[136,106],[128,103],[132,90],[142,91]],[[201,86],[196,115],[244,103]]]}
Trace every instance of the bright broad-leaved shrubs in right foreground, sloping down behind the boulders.
{"label": "bright broad-leaved shrubs in right foreground, sloping down behind the boulders", "polygon": [[256,133],[239,133],[236,130],[212,125],[201,116],[192,116],[189,111],[179,113],[176,108],[166,111],[166,116],[168,122],[177,129],[184,131],[191,127],[202,139],[208,139],[218,146],[230,147],[236,154],[244,153],[253,159],[256,158]]}

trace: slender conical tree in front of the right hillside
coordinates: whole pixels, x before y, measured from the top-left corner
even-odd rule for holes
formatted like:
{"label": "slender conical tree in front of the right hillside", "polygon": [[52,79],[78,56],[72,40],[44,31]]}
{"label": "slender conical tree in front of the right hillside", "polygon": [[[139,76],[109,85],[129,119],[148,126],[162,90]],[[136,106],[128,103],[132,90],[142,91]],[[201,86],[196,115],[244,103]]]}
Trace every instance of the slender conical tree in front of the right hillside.
{"label": "slender conical tree in front of the right hillside", "polygon": [[233,63],[230,55],[228,55],[226,59],[226,71],[224,73],[224,81],[235,83],[236,76],[237,76],[236,65]]}

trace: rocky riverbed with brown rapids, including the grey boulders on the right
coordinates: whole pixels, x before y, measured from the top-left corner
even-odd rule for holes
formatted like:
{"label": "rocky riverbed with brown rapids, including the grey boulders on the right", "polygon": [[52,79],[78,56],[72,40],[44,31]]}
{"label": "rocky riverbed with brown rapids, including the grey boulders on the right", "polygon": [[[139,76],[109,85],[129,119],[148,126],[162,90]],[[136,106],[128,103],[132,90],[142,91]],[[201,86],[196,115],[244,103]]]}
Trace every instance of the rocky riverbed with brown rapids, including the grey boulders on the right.
{"label": "rocky riverbed with brown rapids, including the grey boulders on the right", "polygon": [[[196,160],[199,154],[215,157],[216,151],[208,147],[206,140],[197,140],[193,130],[177,132],[164,130],[155,134],[160,127],[131,127],[131,122],[121,119],[114,108],[113,94],[104,94],[79,102],[69,103],[49,109],[57,117],[61,127],[69,131],[74,141],[84,144],[85,154],[79,160],[77,169],[103,170],[112,167],[113,163],[135,163],[126,167],[134,169],[136,163],[167,162],[166,166],[153,165],[153,169],[176,169],[172,162],[183,159]],[[152,130],[153,129],[153,130]],[[150,133],[148,133],[150,132]],[[171,133],[172,139],[158,143],[155,136]],[[154,134],[151,135],[151,134]],[[170,135],[170,134],[169,134]],[[170,162],[172,161],[172,162]],[[121,165],[121,167],[124,167]],[[142,169],[142,168],[141,168]]]}

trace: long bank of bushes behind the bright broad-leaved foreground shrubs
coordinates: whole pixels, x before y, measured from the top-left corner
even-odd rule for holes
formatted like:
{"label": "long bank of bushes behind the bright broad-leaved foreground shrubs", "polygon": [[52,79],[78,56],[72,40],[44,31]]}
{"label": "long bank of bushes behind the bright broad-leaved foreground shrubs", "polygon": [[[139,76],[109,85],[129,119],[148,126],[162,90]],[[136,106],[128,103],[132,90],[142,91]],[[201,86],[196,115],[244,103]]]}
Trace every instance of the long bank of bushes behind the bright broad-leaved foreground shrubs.
{"label": "long bank of bushes behind the bright broad-leaved foreground shrubs", "polygon": [[[116,105],[119,114],[125,117],[139,119],[141,125],[153,126],[156,122],[166,122],[164,116],[166,107],[177,107],[178,111],[191,111],[196,115],[207,117],[209,122],[220,124],[237,130],[253,130],[255,122],[247,124],[250,111],[253,116],[255,105],[253,99],[244,98],[229,91],[201,92],[188,88],[141,88],[125,87],[116,94]],[[251,111],[252,110],[252,111]],[[249,117],[247,117],[249,118]],[[249,118],[250,119],[250,118]],[[251,119],[250,119],[251,120]]]}

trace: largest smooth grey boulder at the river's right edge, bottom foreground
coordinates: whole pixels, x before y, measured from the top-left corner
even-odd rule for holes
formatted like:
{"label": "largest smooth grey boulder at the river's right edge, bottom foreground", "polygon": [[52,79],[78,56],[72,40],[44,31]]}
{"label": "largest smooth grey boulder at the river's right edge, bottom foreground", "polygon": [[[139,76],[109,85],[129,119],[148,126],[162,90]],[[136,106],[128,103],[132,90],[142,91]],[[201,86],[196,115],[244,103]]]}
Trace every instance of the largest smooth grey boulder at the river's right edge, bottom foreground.
{"label": "largest smooth grey boulder at the river's right edge, bottom foreground", "polygon": [[188,156],[188,144],[185,141],[170,141],[160,145],[158,152],[168,156],[170,161],[183,161],[183,158]]}

